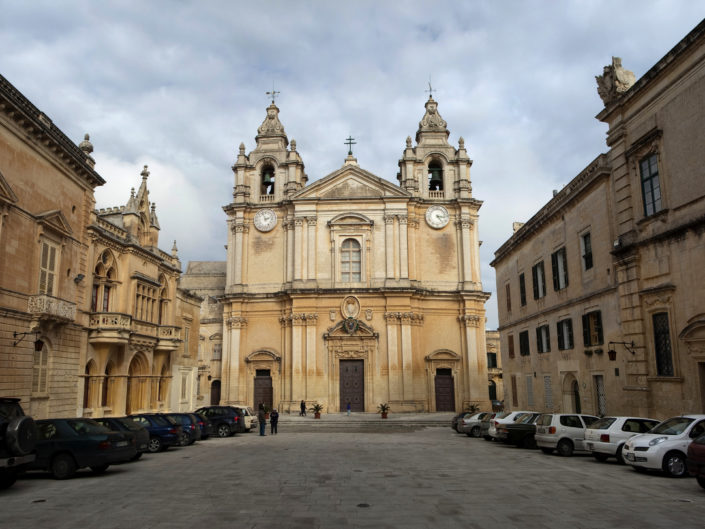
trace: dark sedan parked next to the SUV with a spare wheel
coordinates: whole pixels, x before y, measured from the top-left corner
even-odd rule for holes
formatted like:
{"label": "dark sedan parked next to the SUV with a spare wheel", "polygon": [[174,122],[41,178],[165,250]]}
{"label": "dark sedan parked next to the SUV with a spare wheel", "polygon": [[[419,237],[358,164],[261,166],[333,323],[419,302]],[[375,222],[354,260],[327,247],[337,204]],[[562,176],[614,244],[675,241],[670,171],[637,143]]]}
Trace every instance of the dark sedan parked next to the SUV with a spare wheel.
{"label": "dark sedan parked next to the SUV with a spare wheel", "polygon": [[37,421],[37,433],[37,458],[29,469],[48,470],[56,479],[86,467],[101,474],[137,453],[134,434],[113,432],[91,419],[43,419]]}

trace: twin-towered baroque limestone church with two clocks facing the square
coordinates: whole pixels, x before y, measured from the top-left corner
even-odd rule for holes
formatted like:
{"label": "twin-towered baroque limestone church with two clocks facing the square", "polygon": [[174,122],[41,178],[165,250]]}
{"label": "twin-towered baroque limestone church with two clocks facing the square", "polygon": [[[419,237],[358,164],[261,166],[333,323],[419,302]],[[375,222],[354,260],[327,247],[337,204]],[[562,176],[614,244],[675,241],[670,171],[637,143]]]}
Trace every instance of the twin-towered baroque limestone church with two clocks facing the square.
{"label": "twin-towered baroque limestone church with two clocks facing the square", "polygon": [[[398,184],[343,165],[307,185],[275,102],[240,144],[227,262],[190,263],[181,287],[222,320],[204,338],[211,401],[326,412],[490,407],[472,160],[429,97]],[[209,279],[210,278],[210,279]],[[221,323],[222,322],[222,323]],[[204,325],[205,324],[205,325]],[[217,351],[217,354],[216,354]]]}

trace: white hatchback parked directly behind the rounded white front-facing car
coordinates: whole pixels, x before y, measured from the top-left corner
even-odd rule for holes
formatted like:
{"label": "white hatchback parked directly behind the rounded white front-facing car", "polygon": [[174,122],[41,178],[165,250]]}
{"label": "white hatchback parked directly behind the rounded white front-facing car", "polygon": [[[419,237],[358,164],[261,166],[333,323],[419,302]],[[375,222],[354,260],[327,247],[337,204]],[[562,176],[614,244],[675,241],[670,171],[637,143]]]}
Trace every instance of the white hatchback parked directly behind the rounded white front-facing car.
{"label": "white hatchback parked directly behind the rounded white front-facing car", "polygon": [[627,439],[648,432],[658,423],[644,417],[602,417],[585,430],[585,446],[598,461],[616,457],[624,464],[622,449]]}

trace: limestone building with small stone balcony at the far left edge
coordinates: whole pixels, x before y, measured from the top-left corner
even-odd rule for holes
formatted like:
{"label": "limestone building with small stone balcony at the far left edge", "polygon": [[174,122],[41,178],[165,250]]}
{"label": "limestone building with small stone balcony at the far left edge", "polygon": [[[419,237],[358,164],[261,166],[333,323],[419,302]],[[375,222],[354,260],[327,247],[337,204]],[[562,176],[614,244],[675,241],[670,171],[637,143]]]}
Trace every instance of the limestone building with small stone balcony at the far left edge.
{"label": "limestone building with small stone balcony at the far left edge", "polygon": [[0,395],[75,415],[90,298],[93,160],[0,76]]}

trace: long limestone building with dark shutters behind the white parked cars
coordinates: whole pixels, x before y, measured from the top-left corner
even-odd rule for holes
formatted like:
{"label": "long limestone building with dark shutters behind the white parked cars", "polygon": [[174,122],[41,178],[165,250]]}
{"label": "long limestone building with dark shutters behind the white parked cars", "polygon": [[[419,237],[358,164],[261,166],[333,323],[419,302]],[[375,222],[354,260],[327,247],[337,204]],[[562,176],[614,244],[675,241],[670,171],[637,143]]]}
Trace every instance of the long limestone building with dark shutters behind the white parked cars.
{"label": "long limestone building with dark shutters behind the white parked cars", "polygon": [[598,77],[609,151],[495,252],[513,407],[705,411],[705,21]]}

